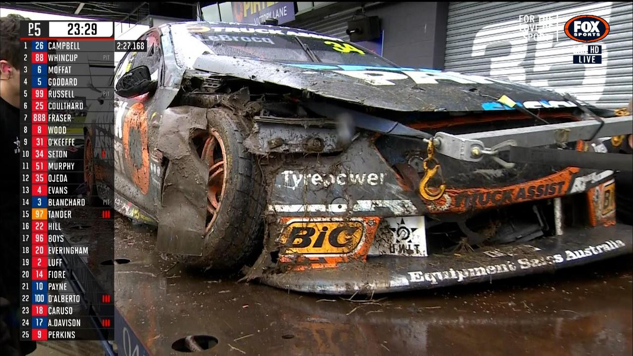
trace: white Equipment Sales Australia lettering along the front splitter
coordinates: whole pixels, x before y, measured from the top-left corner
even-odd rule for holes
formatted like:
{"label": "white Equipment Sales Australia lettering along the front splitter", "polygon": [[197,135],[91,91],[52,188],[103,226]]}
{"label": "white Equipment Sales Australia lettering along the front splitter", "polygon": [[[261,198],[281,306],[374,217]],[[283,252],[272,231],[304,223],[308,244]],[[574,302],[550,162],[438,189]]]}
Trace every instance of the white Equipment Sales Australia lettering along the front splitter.
{"label": "white Equipment Sales Australia lettering along the front splitter", "polygon": [[496,265],[482,265],[468,269],[449,269],[439,272],[423,272],[413,271],[407,272],[411,282],[439,284],[444,281],[463,282],[467,279],[477,279],[481,277],[489,277],[495,274],[503,274],[515,272],[517,270],[528,270],[540,267],[552,266],[563,262],[579,260],[581,258],[601,255],[602,253],[623,248],[625,245],[622,240],[608,240],[602,245],[587,246],[582,250],[565,250],[564,253],[556,253],[539,258],[519,258],[516,261],[506,261]]}

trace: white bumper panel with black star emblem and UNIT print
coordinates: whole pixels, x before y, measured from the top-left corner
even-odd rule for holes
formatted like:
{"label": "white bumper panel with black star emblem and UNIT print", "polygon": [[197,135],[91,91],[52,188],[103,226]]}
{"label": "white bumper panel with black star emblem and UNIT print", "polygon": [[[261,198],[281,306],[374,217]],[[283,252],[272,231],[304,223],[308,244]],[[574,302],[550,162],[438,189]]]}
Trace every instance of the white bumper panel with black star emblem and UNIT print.
{"label": "white bumper panel with black star emblem and UNIT print", "polygon": [[391,217],[382,220],[385,228],[373,239],[369,255],[426,257],[425,220],[417,217]]}

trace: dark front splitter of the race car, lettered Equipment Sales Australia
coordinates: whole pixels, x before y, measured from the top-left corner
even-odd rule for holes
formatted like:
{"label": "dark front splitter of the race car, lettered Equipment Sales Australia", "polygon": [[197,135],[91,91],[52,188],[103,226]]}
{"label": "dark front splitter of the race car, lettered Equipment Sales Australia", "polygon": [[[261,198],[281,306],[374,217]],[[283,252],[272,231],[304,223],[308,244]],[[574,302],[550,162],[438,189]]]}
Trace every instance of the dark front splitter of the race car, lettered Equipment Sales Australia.
{"label": "dark front splitter of the race car, lettered Equipment Sales Australia", "polygon": [[293,291],[327,295],[391,293],[458,284],[491,282],[583,265],[633,252],[633,228],[567,229],[565,234],[464,253],[429,257],[368,257],[334,268],[265,274],[261,281]]}

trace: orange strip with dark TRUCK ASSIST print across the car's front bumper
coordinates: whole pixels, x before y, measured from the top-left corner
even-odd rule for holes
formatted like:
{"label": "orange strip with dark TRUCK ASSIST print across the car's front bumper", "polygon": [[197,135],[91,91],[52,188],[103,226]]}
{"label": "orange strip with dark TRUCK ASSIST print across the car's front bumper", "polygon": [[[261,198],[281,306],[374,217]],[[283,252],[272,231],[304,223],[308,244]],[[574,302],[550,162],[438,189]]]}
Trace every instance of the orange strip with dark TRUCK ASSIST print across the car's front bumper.
{"label": "orange strip with dark TRUCK ASSIST print across the car's front bumper", "polygon": [[579,171],[579,168],[568,167],[536,181],[502,188],[446,189],[442,198],[425,203],[429,212],[465,212],[554,198],[567,194],[573,174]]}

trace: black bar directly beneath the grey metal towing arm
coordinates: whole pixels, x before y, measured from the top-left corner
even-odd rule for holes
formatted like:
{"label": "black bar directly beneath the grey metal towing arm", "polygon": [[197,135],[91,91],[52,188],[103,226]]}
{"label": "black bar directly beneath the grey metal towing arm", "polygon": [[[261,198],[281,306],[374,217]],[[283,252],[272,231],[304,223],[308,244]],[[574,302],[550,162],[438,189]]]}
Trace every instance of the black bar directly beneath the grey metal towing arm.
{"label": "black bar directly beneath the grey metal towing arm", "polygon": [[508,162],[633,171],[633,156],[623,153],[580,152],[567,149],[517,146],[511,146],[508,151]]}

